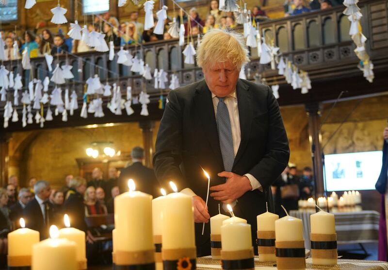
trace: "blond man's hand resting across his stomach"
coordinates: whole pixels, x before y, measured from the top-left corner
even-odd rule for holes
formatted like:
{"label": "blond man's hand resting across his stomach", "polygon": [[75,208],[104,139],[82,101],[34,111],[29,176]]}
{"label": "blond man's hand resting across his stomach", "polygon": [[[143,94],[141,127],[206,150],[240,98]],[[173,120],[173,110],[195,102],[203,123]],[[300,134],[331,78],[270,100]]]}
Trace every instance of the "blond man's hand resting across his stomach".
{"label": "blond man's hand resting across his stomach", "polygon": [[227,180],[225,184],[210,187],[211,191],[216,191],[212,192],[210,196],[217,201],[231,203],[244,195],[245,192],[252,190],[251,182],[246,176],[228,171],[220,172],[218,176],[226,177]]}

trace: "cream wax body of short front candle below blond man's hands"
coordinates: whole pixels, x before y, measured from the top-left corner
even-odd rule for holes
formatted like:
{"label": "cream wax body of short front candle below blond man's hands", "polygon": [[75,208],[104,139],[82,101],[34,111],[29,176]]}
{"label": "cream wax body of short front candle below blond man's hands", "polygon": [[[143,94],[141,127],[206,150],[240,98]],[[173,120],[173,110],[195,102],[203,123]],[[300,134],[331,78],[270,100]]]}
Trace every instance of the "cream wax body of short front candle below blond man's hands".
{"label": "cream wax body of short front candle below blond man's hands", "polygon": [[239,222],[222,225],[221,243],[223,252],[252,249],[251,225]]}

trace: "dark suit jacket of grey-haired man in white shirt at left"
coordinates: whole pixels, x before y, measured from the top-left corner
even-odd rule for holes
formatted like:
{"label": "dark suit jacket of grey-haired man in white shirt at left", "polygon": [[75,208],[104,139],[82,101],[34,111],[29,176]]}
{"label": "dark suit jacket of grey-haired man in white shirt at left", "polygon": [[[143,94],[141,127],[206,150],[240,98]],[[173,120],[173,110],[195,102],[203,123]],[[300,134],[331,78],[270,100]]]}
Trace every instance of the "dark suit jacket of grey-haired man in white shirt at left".
{"label": "dark suit jacket of grey-haired man in white shirt at left", "polygon": [[30,203],[27,203],[26,207],[23,209],[26,227],[38,231],[41,240],[49,237],[50,225],[56,224],[55,210],[51,203],[48,203],[48,209],[46,208],[46,211],[49,211],[48,224],[45,224],[42,210],[35,198]]}

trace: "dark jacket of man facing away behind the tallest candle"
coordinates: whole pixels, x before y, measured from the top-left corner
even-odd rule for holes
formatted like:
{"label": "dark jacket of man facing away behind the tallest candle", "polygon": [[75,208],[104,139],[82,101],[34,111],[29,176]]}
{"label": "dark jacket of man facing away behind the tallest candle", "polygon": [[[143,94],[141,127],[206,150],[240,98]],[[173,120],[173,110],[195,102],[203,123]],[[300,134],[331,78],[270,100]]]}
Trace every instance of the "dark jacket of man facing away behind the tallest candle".
{"label": "dark jacket of man facing away behind the tallest candle", "polygon": [[161,186],[155,177],[153,169],[143,166],[141,162],[134,162],[132,165],[121,169],[118,185],[120,192],[128,191],[128,179],[135,181],[136,190],[151,194],[154,198],[161,196]]}

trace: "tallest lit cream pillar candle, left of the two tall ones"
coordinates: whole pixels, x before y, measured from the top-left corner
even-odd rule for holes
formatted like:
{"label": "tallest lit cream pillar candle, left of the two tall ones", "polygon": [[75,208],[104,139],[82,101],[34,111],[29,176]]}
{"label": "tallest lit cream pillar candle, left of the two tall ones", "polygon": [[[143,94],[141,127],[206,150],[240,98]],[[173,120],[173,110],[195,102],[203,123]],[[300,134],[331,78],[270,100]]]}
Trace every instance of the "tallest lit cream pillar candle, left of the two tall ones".
{"label": "tallest lit cream pillar candle, left of the two tall ones", "polygon": [[[152,196],[134,191],[133,180],[129,181],[129,192],[114,198],[114,217],[117,241],[115,252],[117,265],[154,263],[152,237]],[[139,254],[142,261],[138,261]]]}

